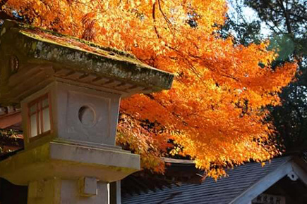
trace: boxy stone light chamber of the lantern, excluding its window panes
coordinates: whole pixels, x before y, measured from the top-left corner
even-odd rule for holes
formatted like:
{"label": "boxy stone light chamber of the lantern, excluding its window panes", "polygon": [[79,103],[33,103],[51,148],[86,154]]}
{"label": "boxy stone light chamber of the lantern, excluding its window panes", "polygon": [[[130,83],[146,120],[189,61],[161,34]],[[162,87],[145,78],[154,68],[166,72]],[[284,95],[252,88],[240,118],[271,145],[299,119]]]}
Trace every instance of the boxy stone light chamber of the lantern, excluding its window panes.
{"label": "boxy stone light chamber of the lantern, excluding its window panes", "polygon": [[52,82],[21,101],[23,129],[30,127],[28,104],[47,93],[52,105],[52,131],[34,141],[30,141],[29,131],[24,131],[25,149],[54,139],[88,146],[115,146],[119,94]]}

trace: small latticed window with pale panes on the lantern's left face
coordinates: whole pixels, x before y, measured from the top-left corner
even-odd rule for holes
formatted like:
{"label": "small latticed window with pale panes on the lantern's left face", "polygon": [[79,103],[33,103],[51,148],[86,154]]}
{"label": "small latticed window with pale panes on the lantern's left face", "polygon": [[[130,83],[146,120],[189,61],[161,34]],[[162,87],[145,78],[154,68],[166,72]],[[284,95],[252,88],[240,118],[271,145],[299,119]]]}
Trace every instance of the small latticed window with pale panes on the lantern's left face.
{"label": "small latticed window with pale panes on the lantern's left face", "polygon": [[29,139],[49,134],[52,130],[49,94],[28,103]]}

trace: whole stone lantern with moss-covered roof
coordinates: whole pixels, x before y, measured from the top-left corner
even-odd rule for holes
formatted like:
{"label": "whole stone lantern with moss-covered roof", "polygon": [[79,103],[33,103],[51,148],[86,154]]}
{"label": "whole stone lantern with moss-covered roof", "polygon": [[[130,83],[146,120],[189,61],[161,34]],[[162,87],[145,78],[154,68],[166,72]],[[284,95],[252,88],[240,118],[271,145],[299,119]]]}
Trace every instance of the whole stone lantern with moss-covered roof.
{"label": "whole stone lantern with moss-covered roof", "polygon": [[169,89],[173,75],[128,53],[6,20],[0,103],[20,104],[25,149],[0,177],[28,185],[28,203],[109,203],[109,182],[140,170],[115,146],[121,97]]}

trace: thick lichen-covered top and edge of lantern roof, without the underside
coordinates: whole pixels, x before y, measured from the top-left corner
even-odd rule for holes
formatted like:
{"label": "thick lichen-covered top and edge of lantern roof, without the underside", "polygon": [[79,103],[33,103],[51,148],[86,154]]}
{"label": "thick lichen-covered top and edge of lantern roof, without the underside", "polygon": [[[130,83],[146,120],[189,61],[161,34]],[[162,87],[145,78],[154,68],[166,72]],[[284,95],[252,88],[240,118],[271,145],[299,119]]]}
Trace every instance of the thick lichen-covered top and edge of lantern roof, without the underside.
{"label": "thick lichen-covered top and edge of lantern roof, without the underside", "polygon": [[[170,89],[174,79],[171,73],[152,68],[129,53],[75,37],[12,20],[5,20],[0,30],[0,39],[6,32],[18,34],[17,39],[13,38],[13,34],[11,35],[11,39],[14,39],[12,49],[18,49],[18,52],[16,51],[18,55],[27,53],[19,57],[31,63],[53,63],[86,75],[130,82],[150,88],[152,91]],[[14,52],[11,51],[11,53]]]}

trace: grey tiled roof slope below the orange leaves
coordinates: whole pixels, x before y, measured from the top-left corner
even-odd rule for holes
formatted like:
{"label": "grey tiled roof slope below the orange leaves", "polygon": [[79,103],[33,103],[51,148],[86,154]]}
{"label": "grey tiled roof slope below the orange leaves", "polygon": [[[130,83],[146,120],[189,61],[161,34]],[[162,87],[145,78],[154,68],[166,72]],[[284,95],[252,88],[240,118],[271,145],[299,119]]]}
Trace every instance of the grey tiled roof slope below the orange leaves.
{"label": "grey tiled roof slope below the orange leaves", "polygon": [[266,162],[265,167],[261,167],[260,163],[251,162],[229,170],[227,172],[229,177],[219,179],[217,182],[214,179],[205,179],[202,184],[182,184],[181,186],[173,184],[171,189],[164,187],[164,189],[157,189],[156,192],[127,195],[121,199],[123,204],[230,203],[265,175],[277,170],[280,165],[290,159],[291,157],[275,158],[271,162]]}

